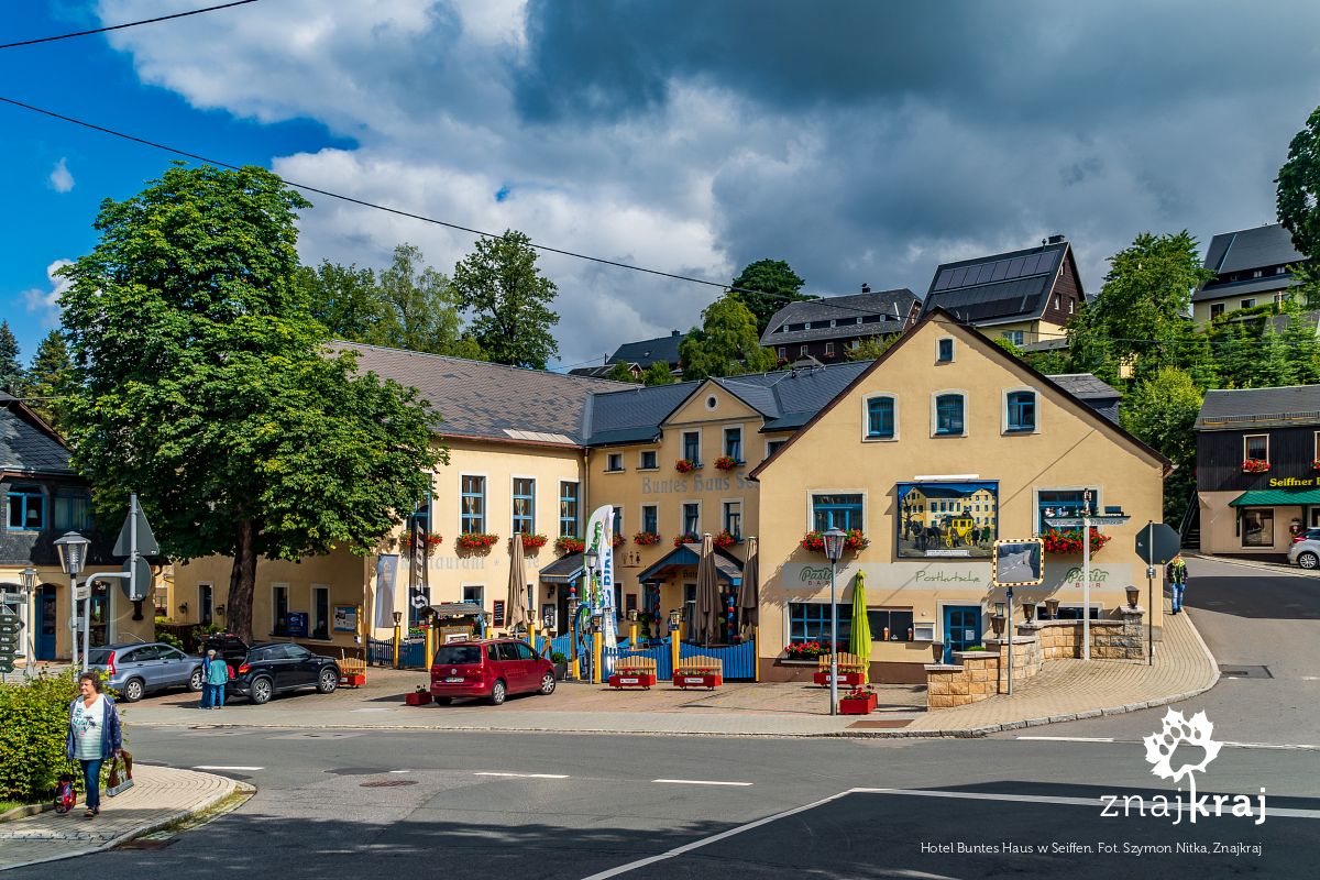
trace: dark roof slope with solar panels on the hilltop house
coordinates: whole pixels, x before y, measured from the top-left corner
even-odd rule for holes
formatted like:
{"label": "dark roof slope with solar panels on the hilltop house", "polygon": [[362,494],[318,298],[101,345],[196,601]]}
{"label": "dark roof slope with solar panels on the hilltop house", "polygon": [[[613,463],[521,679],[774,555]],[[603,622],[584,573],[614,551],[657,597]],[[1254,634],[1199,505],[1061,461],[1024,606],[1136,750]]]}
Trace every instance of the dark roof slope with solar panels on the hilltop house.
{"label": "dark roof slope with solar panels on the hilltop house", "polygon": [[940,307],[964,323],[1039,318],[1067,257],[1068,241],[941,264],[921,314]]}

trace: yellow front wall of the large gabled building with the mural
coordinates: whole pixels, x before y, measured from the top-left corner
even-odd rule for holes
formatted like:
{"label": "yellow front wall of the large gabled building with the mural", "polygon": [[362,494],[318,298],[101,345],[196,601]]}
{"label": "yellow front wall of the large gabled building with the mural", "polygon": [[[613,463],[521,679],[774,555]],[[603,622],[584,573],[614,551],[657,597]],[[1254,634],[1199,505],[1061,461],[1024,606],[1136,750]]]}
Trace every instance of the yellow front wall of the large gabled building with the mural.
{"label": "yellow front wall of the large gabled building with the mural", "polygon": [[[937,359],[941,338],[953,339],[949,363]],[[1024,389],[1036,394],[1035,430],[1010,431],[1007,394]],[[964,431],[936,435],[933,400],[950,392],[964,397]],[[892,439],[867,438],[866,400],[879,394],[895,400]],[[809,606],[829,603],[829,562],[799,545],[813,528],[814,495],[862,499],[870,545],[845,551],[840,561],[840,613],[850,613],[853,584],[863,571],[870,608],[895,611],[894,619],[903,621],[911,613],[912,640],[907,632],[891,632],[891,640],[883,641],[873,625],[873,672],[880,681],[924,681],[920,668],[933,660],[932,643],[961,635],[948,632],[948,621],[958,620],[960,631],[989,632],[987,610],[1005,600],[1005,591],[991,586],[989,559],[975,558],[957,544],[936,550],[948,555],[902,558],[898,534],[904,513],[898,484],[995,482],[997,492],[977,492],[969,499],[990,505],[991,495],[997,497],[990,505],[995,509],[981,515],[997,526],[998,538],[1038,533],[1043,491],[1098,491],[1100,509],[1121,507],[1131,517],[1126,525],[1102,529],[1111,541],[1093,554],[1090,603],[1100,607],[1101,616],[1109,616],[1123,602],[1127,584],[1142,584],[1146,594],[1144,565],[1133,541],[1147,520],[1160,519],[1163,472],[1164,462],[1155,454],[1019,361],[991,350],[979,334],[952,321],[923,322],[756,474],[762,487],[762,677],[793,674],[780,660],[781,648],[792,639],[792,617],[801,617],[804,610],[814,612]],[[929,499],[919,503],[928,508]],[[1064,607],[1081,606],[1081,555],[1047,554],[1044,567],[1041,586],[1015,591],[1018,620],[1023,602],[1055,598]],[[961,616],[950,617],[950,608],[972,608],[975,627],[964,624]]]}

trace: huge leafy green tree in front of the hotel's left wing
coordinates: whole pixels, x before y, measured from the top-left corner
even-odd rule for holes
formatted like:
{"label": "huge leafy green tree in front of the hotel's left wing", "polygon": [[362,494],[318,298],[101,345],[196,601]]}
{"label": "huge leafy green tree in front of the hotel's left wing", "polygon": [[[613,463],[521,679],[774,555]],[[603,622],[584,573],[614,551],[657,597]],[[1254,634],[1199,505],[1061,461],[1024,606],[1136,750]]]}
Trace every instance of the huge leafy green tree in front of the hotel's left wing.
{"label": "huge leafy green tree in front of the hotel's left wing", "polygon": [[243,637],[259,557],[370,551],[447,460],[414,391],[325,348],[294,280],[306,206],[260,168],[176,165],[103,202],[62,270],[74,464],[103,521],[133,489],[165,553],[234,558]]}

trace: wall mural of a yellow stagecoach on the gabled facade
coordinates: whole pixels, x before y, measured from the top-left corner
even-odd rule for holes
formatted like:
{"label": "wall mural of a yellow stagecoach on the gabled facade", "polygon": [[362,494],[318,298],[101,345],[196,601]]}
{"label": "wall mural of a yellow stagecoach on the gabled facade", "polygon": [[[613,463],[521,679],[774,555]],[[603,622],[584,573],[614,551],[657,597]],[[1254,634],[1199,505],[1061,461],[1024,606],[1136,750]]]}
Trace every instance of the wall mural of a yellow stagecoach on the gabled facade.
{"label": "wall mural of a yellow stagecoach on the gabled facade", "polygon": [[998,480],[899,483],[899,558],[989,559],[999,534]]}

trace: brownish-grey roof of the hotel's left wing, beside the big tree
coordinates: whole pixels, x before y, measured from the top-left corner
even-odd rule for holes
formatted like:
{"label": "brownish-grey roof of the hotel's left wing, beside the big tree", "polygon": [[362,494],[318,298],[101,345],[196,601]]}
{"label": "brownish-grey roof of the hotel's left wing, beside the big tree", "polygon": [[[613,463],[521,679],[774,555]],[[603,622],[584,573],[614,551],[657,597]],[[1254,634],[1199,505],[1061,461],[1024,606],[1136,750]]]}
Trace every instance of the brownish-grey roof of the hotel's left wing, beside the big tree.
{"label": "brownish-grey roof of the hotel's left wing, beside the big tree", "polygon": [[[586,400],[594,391],[631,385],[401,348],[335,342],[359,354],[358,369],[412,387],[445,421],[440,434],[582,443]],[[528,433],[548,437],[532,437]]]}

